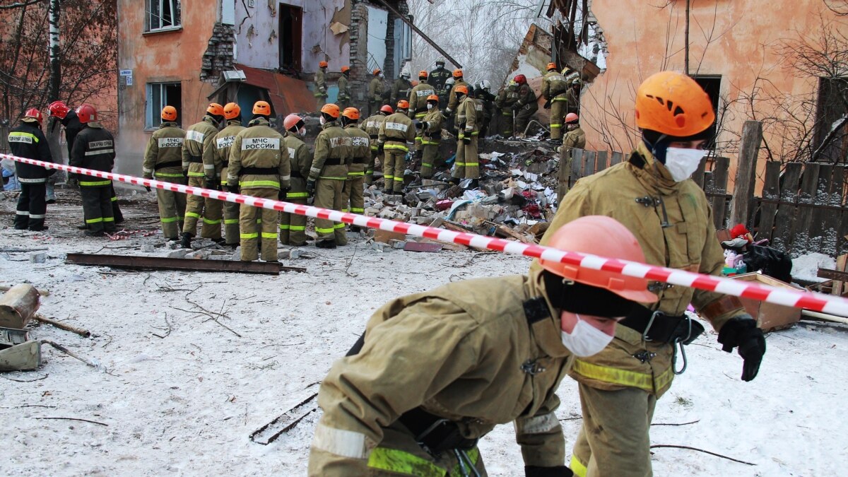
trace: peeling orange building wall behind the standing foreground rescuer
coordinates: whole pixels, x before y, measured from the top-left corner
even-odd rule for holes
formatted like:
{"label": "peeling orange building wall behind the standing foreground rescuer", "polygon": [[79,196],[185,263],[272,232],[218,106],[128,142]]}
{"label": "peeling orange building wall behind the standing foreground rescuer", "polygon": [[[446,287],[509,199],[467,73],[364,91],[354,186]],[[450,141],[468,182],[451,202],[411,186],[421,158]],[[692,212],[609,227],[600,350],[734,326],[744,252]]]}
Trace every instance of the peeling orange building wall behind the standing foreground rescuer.
{"label": "peeling orange building wall behind the standing foreground rescuer", "polygon": [[[666,8],[657,8],[666,3]],[[610,149],[607,143],[612,143],[612,149],[627,153],[633,147],[639,137],[633,120],[633,98],[639,83],[656,71],[683,71],[685,5],[683,0],[594,0],[592,11],[604,30],[610,53],[607,70],[589,85],[581,100],[587,149]],[[720,134],[718,142],[737,140],[744,121],[750,119],[744,105],[732,102],[740,92],[750,92],[757,76],[785,93],[817,91],[816,78],[798,78],[780,66],[773,46],[797,36],[797,31],[820,30],[820,14],[833,19],[821,0],[692,0],[691,5],[689,73],[721,75],[721,96],[732,104],[724,122],[728,132]],[[707,44],[713,25],[712,42]],[[615,111],[630,132],[616,126],[611,118]],[[775,149],[779,141],[773,132],[766,130],[764,136],[772,139],[769,143]],[[735,149],[723,155],[732,159],[732,180]],[[763,169],[764,163],[761,154],[758,169]]]}

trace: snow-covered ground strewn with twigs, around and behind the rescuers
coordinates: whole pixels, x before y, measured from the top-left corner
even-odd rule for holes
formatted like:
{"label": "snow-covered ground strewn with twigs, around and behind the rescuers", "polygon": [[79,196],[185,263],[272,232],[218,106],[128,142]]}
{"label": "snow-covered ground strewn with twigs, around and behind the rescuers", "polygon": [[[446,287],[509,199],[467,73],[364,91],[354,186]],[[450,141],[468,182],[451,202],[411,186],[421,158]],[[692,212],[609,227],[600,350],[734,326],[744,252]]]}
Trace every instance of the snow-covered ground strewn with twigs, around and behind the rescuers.
{"label": "snow-covered ground strewn with twigs, around and behind the rescuers", "polygon": [[[152,196],[152,194],[151,194]],[[306,273],[122,272],[64,264],[64,254],[144,255],[156,236],[86,239],[78,201],[51,206],[49,234],[8,228],[14,201],[0,200],[0,248],[48,247],[44,264],[0,253],[0,283],[53,293],[41,313],[87,328],[85,339],[36,326],[35,339],[66,345],[105,372],[53,349],[44,366],[0,374],[2,474],[304,475],[317,412],[269,446],[248,439],[317,390],[332,361],[354,343],[372,311],[398,295],[441,283],[527,270],[523,257],[371,250],[354,239],[338,250],[303,250],[285,261]],[[125,205],[136,229],[156,229],[149,196]],[[114,247],[129,247],[112,249]],[[161,248],[150,255],[164,255]],[[223,312],[221,324],[198,312]],[[181,310],[178,310],[181,309]],[[739,380],[741,359],[708,332],[688,347],[689,369],[657,406],[652,441],[657,475],[827,476],[848,469],[848,327],[803,323],[769,334],[760,375]],[[159,335],[159,337],[156,336]],[[15,380],[12,380],[15,379]],[[20,382],[26,381],[26,382]],[[575,383],[560,390],[567,445],[577,435]],[[39,418],[82,418],[102,424]],[[522,475],[511,425],[481,442],[491,475]],[[568,452],[570,453],[570,452]]]}

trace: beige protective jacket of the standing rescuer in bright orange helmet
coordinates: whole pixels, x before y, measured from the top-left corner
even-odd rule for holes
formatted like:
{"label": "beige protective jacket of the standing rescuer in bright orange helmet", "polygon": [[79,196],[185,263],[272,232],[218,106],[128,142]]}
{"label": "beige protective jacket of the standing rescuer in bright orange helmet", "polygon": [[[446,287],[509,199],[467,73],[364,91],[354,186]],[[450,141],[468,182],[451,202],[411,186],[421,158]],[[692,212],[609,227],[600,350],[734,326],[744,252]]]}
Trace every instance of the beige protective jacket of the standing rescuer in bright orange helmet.
{"label": "beige protective jacket of the standing rescuer in bright orange helmet", "polygon": [[[661,204],[651,198],[661,200]],[[662,205],[668,227],[661,226]],[[639,143],[629,161],[580,179],[562,199],[541,244],[548,244],[551,235],[568,222],[592,215],[611,216],[628,227],[639,240],[649,264],[711,275],[722,271],[724,255],[704,191],[691,179],[675,182],[644,143]],[[536,262],[532,268],[538,268]],[[739,300],[717,293],[660,282],[650,283],[649,289],[660,297],[651,309],[680,316],[691,302],[716,330],[731,317],[745,312]],[[672,345],[646,342],[632,328],[617,326],[611,344],[597,355],[579,358],[571,375],[601,390],[633,387],[661,396],[674,376],[672,350]]]}

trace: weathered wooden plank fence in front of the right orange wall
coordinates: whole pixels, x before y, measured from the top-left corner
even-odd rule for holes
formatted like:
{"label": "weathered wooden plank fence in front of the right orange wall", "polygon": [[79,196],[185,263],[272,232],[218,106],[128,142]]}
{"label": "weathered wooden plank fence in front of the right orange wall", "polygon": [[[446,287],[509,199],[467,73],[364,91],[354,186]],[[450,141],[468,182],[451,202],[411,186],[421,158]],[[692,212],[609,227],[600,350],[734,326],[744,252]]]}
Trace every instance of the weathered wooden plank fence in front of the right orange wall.
{"label": "weathered wooden plank fence in front of the right orange wall", "polygon": [[[628,154],[572,149],[571,168],[560,168],[559,193],[571,188],[580,177],[603,171]],[[561,158],[566,164],[566,156]],[[728,191],[726,157],[707,158],[692,179],[704,189],[718,230],[733,227],[730,210],[735,198]],[[756,173],[756,167],[750,168]],[[736,178],[739,183],[740,177]],[[793,256],[807,252],[837,256],[848,253],[848,167],[816,163],[769,161],[762,197],[740,200],[747,209],[745,225],[756,232],[756,239],[769,239],[779,250]],[[561,195],[560,195],[561,196]]]}

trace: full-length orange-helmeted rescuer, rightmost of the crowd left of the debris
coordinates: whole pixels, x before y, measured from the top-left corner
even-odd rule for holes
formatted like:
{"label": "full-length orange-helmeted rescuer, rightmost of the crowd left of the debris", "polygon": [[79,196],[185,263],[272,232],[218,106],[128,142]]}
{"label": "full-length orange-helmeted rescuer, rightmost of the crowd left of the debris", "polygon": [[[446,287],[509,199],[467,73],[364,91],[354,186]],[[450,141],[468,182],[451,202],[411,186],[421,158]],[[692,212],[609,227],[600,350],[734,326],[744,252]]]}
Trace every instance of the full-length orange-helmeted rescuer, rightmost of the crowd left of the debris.
{"label": "full-length orange-helmeted rescuer, rightmost of the crowd left of the debris", "polygon": [[459,103],[456,110],[456,161],[451,174],[451,182],[472,179],[469,188],[477,187],[480,177],[480,163],[477,159],[477,101],[468,96],[468,87],[455,87],[455,96]]}

